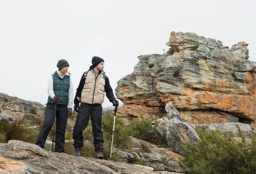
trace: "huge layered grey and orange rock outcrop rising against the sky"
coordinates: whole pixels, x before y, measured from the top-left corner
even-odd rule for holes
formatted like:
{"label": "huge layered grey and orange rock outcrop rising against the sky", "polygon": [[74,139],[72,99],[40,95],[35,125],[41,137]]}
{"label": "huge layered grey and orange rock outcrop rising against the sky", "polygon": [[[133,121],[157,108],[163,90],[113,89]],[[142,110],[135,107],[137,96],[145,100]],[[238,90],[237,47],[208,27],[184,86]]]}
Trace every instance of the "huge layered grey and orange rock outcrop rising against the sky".
{"label": "huge layered grey and orange rock outcrop rising against the sky", "polygon": [[256,63],[244,42],[230,49],[194,33],[171,32],[163,55],[140,55],[134,72],[120,79],[118,113],[166,116],[172,102],[193,124],[242,122],[256,128]]}

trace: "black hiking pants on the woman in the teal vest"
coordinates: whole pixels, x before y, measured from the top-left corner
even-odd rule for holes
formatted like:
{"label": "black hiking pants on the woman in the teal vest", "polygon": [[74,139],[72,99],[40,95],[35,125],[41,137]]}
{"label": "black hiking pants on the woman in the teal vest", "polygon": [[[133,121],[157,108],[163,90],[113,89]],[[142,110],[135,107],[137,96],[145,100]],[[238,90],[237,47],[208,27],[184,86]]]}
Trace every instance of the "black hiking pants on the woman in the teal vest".
{"label": "black hiking pants on the woman in the teal vest", "polygon": [[[44,148],[45,141],[47,139],[49,131],[52,128],[53,121],[54,121],[54,110],[55,110],[55,104],[48,103],[45,108],[44,123],[38,135],[38,139],[35,142],[35,144],[39,145],[41,148]],[[56,124],[55,124],[55,130],[56,130],[55,152],[64,152],[66,126],[67,126],[67,105],[57,104]]]}

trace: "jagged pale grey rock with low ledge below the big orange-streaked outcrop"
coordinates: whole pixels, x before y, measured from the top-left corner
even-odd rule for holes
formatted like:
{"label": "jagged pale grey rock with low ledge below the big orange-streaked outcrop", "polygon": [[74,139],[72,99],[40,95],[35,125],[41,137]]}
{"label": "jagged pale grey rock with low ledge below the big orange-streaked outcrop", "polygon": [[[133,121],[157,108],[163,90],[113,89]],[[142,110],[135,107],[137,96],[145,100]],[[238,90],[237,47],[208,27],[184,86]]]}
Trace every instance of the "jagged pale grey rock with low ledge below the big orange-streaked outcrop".
{"label": "jagged pale grey rock with low ledge below the big orange-streaked outcrop", "polygon": [[[240,130],[244,133],[247,142],[251,141],[252,135],[255,135],[253,128],[250,125],[244,123],[216,123],[209,125],[193,125],[192,123],[186,123],[181,118],[179,112],[175,109],[172,102],[166,104],[166,112],[168,120],[159,119],[159,125],[157,126],[157,131],[166,138],[168,145],[173,151],[180,153],[180,142],[193,142],[198,144],[200,139],[195,129],[202,128],[202,126],[207,126],[207,131],[219,130],[221,132],[226,132],[228,135],[236,137],[237,126],[239,125]],[[237,138],[237,137],[236,137]]]}

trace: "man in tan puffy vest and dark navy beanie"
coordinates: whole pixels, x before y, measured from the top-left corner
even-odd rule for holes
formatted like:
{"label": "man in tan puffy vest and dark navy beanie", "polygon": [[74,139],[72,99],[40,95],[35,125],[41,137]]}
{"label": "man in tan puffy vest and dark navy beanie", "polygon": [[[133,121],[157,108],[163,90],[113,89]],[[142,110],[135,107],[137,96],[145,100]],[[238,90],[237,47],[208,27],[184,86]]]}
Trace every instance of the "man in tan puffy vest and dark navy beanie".
{"label": "man in tan puffy vest and dark navy beanie", "polygon": [[[82,131],[87,127],[89,117],[93,126],[94,148],[96,158],[103,159],[103,133],[102,129],[102,103],[104,96],[108,97],[113,106],[118,106],[118,101],[114,97],[113,90],[110,86],[109,79],[103,71],[104,60],[94,56],[92,66],[82,75],[79,86],[76,89],[74,99],[74,110],[78,112],[76,125],[73,130],[73,139],[76,156],[81,156],[84,145]],[[79,103],[81,105],[79,107]]]}

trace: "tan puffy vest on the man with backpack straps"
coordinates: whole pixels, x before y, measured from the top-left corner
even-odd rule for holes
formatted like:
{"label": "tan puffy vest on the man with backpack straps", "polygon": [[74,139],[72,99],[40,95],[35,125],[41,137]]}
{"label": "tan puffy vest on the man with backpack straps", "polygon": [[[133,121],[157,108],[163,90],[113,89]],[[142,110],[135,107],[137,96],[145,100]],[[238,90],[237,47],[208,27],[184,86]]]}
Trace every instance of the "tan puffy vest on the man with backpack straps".
{"label": "tan puffy vest on the man with backpack straps", "polygon": [[87,73],[84,88],[81,92],[81,102],[88,104],[102,104],[105,96],[105,77],[100,73],[95,79],[95,72]]}

